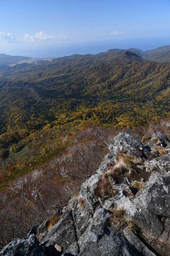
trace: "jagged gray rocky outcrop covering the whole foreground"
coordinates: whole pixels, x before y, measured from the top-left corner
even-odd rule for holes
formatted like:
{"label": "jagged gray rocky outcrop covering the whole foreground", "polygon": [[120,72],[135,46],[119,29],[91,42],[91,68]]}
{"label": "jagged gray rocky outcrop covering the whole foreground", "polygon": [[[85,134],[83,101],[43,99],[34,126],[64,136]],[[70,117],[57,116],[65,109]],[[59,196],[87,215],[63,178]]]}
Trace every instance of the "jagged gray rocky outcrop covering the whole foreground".
{"label": "jagged gray rocky outcrop covering the whole foreground", "polygon": [[[163,142],[162,146],[168,141],[164,137],[160,133],[152,136]],[[159,157],[159,148],[151,146],[121,132],[112,140],[110,153],[96,173],[82,184],[81,203],[74,203],[73,208],[63,214],[58,210],[56,214],[61,218],[50,230],[47,219],[39,227],[33,227],[26,238],[16,238],[5,246],[0,255],[169,255],[170,158],[169,154]],[[124,167],[120,167],[121,182],[111,184],[115,192],[97,197],[98,182],[109,175],[114,177],[114,170],[119,173],[116,161],[120,152],[124,157],[127,154],[126,161],[134,157],[135,169],[126,177],[123,176]],[[120,216],[120,212],[124,215]],[[137,225],[138,236],[132,233],[134,229],[130,224],[124,226],[122,223]]]}

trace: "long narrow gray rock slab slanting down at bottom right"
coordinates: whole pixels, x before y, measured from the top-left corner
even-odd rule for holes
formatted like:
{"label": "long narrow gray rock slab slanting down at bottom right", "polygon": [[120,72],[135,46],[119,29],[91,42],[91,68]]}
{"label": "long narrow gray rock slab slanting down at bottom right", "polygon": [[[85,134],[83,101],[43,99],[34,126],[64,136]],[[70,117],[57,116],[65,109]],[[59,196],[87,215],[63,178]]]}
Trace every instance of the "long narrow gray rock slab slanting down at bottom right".
{"label": "long narrow gray rock slab slanting down at bottom right", "polygon": [[142,253],[143,256],[155,256],[153,252],[151,252],[146,245],[143,244],[140,239],[135,236],[134,233],[132,233],[129,229],[124,229],[123,234],[125,238],[130,242],[131,245],[133,245],[139,252]]}

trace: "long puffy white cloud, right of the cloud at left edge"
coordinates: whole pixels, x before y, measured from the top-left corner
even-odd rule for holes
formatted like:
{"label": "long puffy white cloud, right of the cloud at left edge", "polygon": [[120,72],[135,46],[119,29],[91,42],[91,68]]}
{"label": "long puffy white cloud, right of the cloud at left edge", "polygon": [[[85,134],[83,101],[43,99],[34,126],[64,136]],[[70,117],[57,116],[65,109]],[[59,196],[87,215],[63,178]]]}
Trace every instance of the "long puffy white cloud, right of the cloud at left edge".
{"label": "long puffy white cloud, right of the cloud at left edge", "polygon": [[36,40],[50,40],[55,38],[67,38],[67,35],[62,35],[62,34],[58,36],[47,35],[47,34],[44,34],[43,31],[39,33],[35,33],[35,35],[29,35],[29,34],[24,35],[24,41],[30,41],[30,42],[34,42]]}

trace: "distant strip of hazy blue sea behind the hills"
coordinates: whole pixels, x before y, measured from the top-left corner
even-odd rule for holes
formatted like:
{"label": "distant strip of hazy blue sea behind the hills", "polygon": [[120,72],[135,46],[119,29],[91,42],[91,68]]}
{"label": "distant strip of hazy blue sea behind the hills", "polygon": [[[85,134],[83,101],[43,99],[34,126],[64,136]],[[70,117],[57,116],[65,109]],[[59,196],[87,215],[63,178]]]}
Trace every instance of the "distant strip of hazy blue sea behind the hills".
{"label": "distant strip of hazy blue sea behind the hills", "polygon": [[72,54],[97,54],[106,52],[109,49],[128,49],[138,48],[140,50],[152,50],[159,46],[170,45],[170,37],[162,38],[135,38],[127,40],[109,40],[109,41],[93,41],[86,43],[75,43],[60,46],[42,47],[36,49],[23,50],[12,55],[28,56],[32,58],[57,58],[70,56]]}

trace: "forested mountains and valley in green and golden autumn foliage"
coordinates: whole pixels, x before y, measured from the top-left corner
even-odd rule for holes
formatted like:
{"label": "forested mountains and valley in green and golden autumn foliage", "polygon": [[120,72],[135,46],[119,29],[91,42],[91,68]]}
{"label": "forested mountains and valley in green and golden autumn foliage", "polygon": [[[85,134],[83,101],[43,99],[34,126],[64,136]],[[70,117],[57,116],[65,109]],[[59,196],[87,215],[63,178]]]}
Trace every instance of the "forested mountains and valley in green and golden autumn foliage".
{"label": "forested mountains and valley in green and golden autumn foliage", "polygon": [[45,151],[50,154],[52,148],[56,150],[52,155],[57,154],[61,131],[69,132],[76,124],[134,129],[169,115],[169,70],[169,63],[119,49],[74,54],[48,64],[1,66],[3,177],[4,171],[7,180],[15,177],[16,171],[9,175],[11,167],[27,166],[28,172],[29,166],[36,166],[35,159]]}

